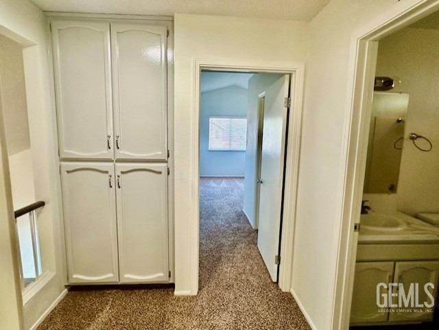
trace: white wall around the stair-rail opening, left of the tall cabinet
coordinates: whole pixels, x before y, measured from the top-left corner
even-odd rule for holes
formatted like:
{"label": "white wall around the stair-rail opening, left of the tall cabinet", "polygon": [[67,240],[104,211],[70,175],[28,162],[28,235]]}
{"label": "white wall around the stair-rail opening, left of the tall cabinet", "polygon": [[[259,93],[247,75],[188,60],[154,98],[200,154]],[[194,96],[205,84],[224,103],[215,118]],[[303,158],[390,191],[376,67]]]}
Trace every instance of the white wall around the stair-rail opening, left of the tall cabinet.
{"label": "white wall around the stair-rail opening, left of the tall cabinet", "polygon": [[27,91],[29,137],[32,143],[35,194],[47,203],[38,217],[43,265],[54,277],[24,306],[29,329],[64,290],[64,253],[60,231],[60,183],[43,12],[27,0],[0,0],[0,34],[25,45],[23,64]]}

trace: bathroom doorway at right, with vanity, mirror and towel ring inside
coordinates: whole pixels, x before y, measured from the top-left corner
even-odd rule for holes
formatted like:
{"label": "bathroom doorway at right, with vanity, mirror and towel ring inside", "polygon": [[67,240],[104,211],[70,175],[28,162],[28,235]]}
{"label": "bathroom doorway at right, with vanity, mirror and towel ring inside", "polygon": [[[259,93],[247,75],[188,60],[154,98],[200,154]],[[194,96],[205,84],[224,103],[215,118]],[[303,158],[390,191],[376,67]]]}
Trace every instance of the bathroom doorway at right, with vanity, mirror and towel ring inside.
{"label": "bathroom doorway at right, with vanity, mirror and towel ring inside", "polygon": [[359,39],[341,329],[438,328],[439,103],[429,84],[439,65],[437,9],[407,12]]}

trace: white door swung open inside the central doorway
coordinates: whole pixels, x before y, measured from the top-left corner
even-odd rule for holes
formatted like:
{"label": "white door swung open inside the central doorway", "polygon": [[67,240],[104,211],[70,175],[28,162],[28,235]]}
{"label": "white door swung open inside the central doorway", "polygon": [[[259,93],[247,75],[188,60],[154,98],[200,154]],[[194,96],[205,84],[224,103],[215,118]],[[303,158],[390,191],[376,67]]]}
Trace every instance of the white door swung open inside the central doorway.
{"label": "white door swung open inside the central doorway", "polygon": [[277,281],[276,256],[281,231],[288,90],[289,75],[283,75],[265,91],[263,113],[258,248],[274,282]]}

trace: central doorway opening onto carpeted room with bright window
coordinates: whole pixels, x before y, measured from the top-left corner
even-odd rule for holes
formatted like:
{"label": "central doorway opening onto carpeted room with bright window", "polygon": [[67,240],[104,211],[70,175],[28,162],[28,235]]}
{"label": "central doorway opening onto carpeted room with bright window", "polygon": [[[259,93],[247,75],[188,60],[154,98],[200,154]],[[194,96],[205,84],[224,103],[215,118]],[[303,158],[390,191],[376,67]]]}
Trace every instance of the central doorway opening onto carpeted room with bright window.
{"label": "central doorway opening onto carpeted room with bright window", "polygon": [[200,72],[201,294],[279,281],[291,84],[290,73]]}

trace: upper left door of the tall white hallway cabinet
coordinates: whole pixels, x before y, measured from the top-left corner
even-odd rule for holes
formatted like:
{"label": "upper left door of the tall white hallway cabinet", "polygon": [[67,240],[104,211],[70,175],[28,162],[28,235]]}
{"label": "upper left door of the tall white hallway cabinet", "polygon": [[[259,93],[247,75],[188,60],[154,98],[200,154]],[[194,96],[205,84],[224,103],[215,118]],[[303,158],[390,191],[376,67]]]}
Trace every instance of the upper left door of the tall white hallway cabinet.
{"label": "upper left door of the tall white hallway cabinet", "polygon": [[51,23],[61,158],[113,158],[110,23]]}

